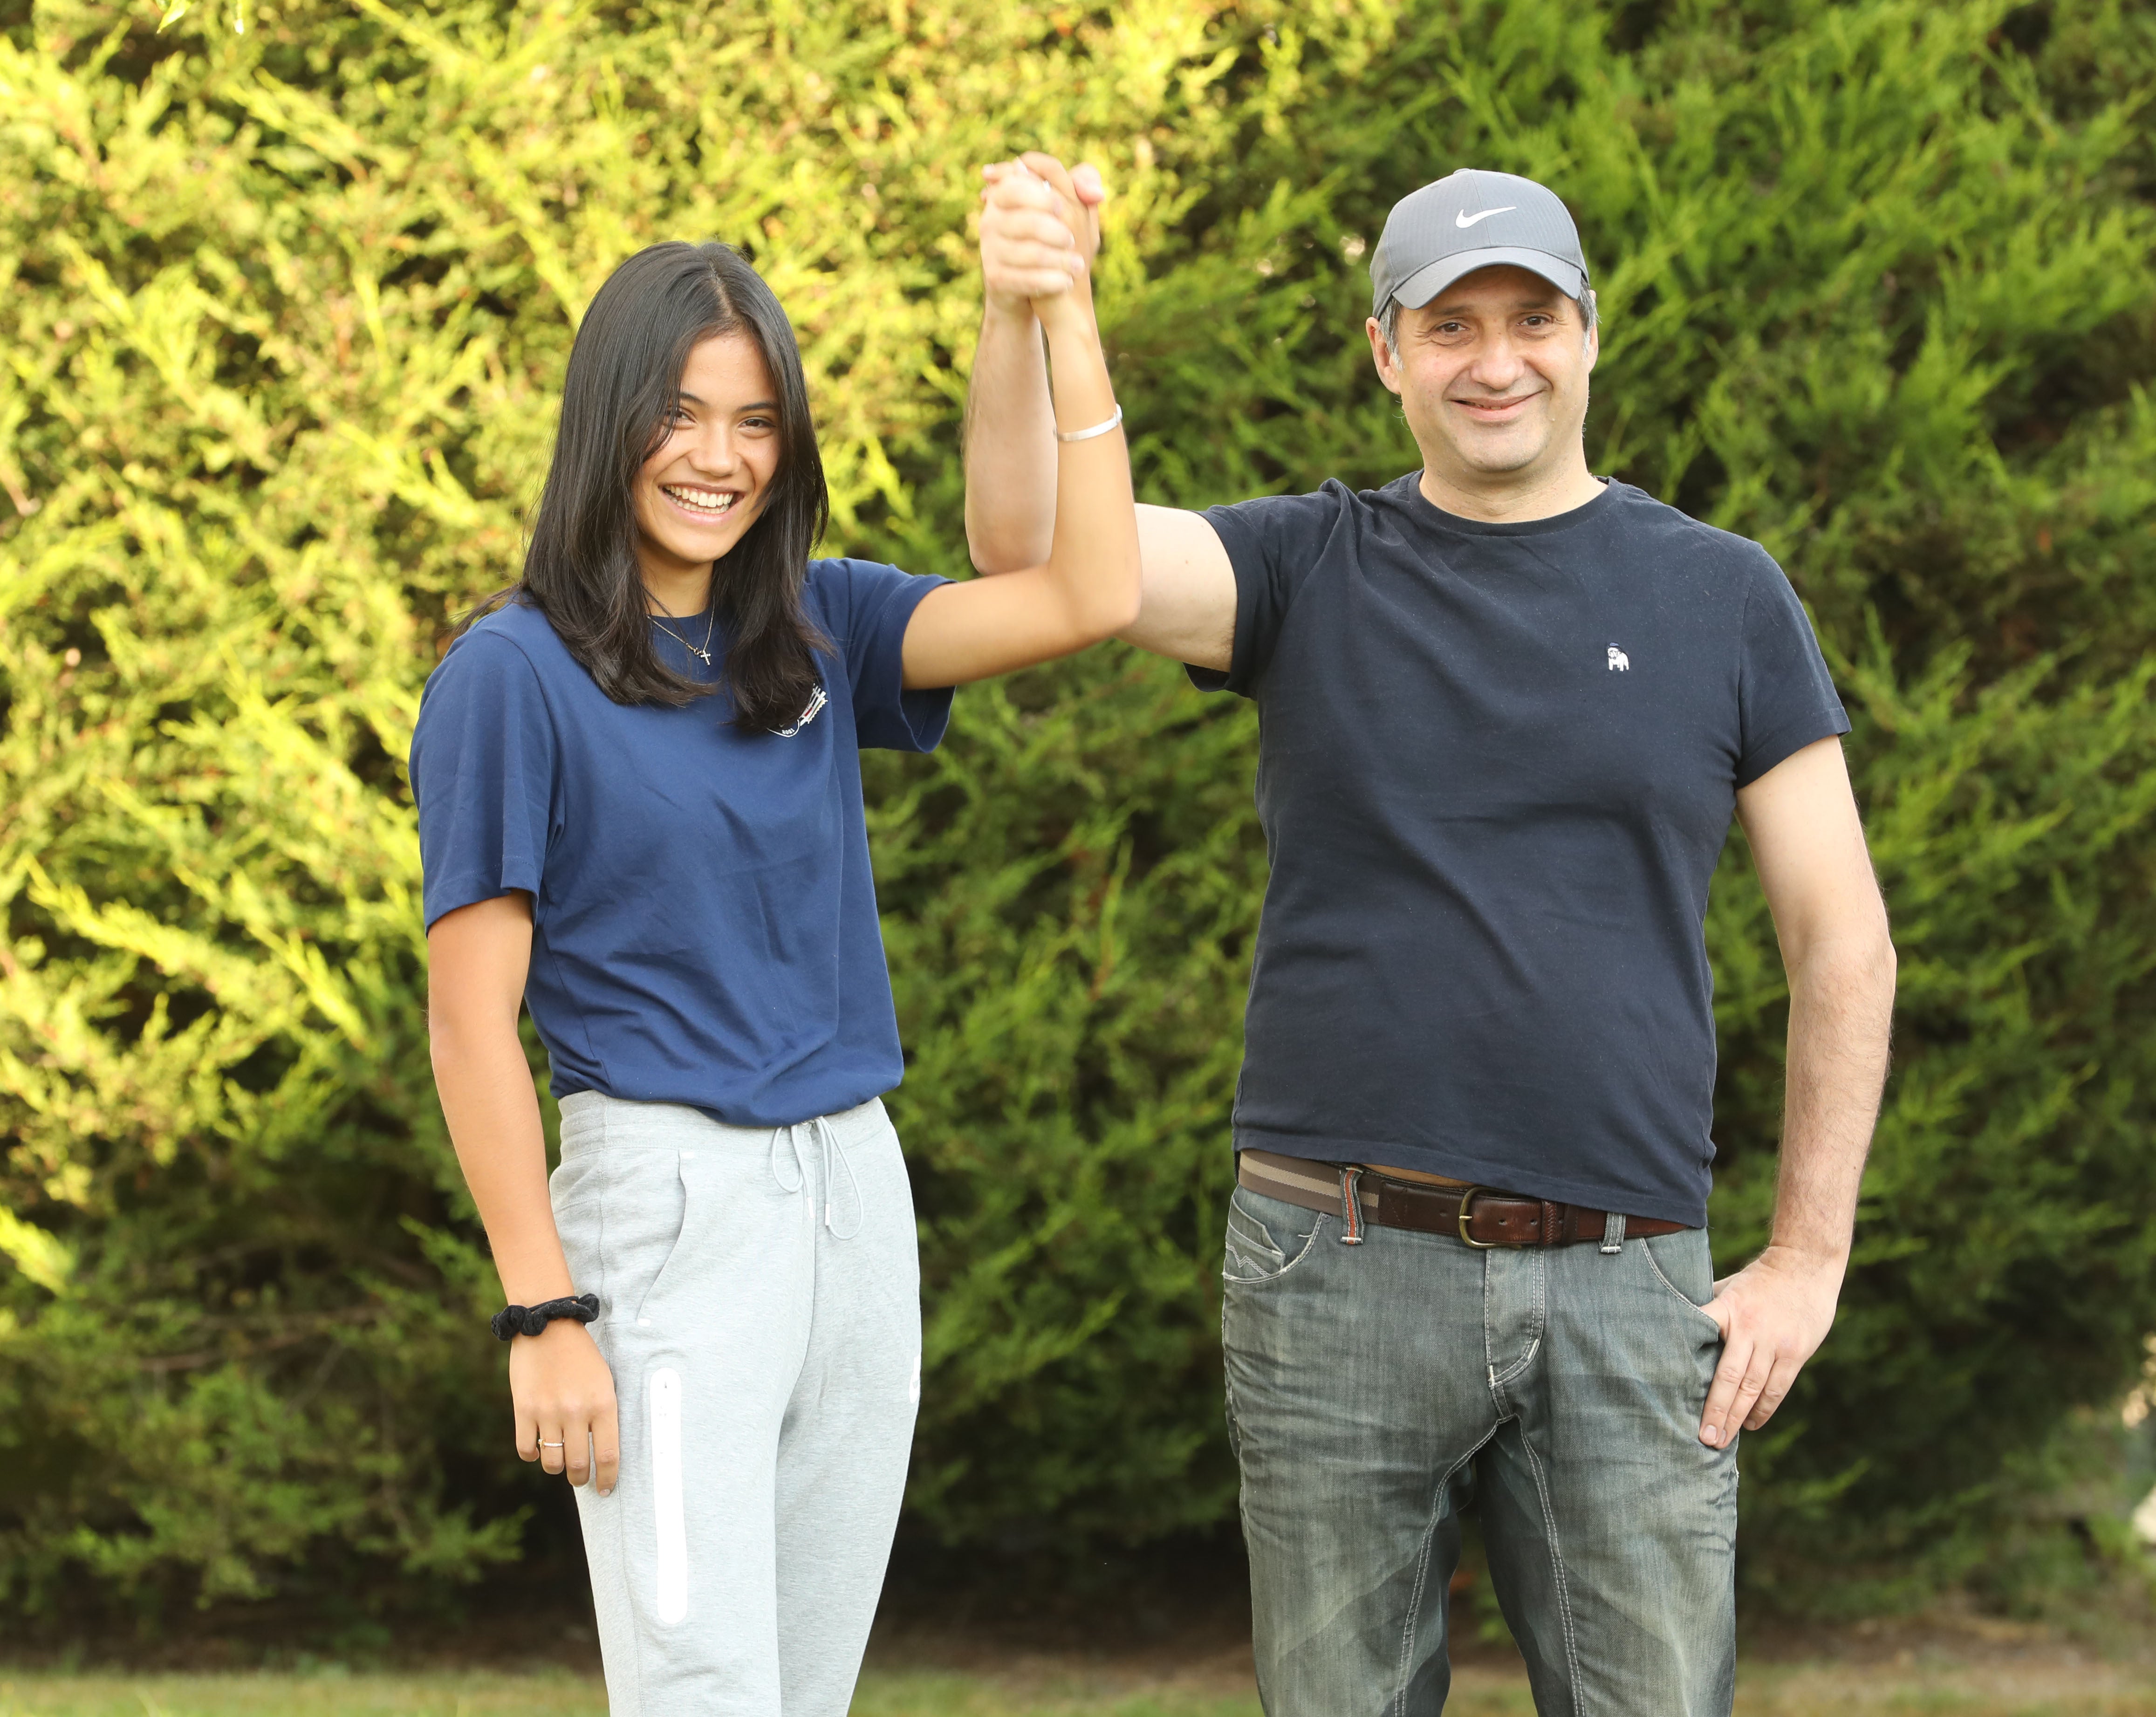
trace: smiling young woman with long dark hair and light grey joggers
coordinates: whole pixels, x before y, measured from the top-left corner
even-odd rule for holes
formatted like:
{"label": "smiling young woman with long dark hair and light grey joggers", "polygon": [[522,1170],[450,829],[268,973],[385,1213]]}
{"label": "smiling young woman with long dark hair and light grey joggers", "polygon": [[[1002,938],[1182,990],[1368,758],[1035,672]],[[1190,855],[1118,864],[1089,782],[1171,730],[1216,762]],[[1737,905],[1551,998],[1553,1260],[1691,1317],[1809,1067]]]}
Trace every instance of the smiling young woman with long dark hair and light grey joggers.
{"label": "smiling young woman with long dark hair and light grey joggers", "polygon": [[927,751],[951,686],[1136,615],[1076,257],[1048,231],[1054,552],[951,585],[811,559],[785,313],[722,244],[638,252],[576,336],[524,578],[427,682],[433,1068],[511,1301],[517,1454],[578,1486],[617,1717],[852,1700],[921,1396],[858,751]]}

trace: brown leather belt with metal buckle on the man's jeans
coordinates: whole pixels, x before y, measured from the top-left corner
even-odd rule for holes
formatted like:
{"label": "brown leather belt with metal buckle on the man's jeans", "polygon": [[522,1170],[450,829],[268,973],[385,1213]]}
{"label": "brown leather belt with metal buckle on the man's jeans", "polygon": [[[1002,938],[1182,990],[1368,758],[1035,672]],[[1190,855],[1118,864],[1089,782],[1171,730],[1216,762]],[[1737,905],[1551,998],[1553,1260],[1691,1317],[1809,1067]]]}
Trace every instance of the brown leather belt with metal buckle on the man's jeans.
{"label": "brown leather belt with metal buckle on the man's jeans", "polygon": [[[1317,1163],[1304,1156],[1279,1156],[1270,1150],[1246,1150],[1235,1158],[1235,1180],[1270,1199],[1300,1204],[1304,1210],[1348,1214],[1348,1189],[1354,1189],[1356,1217],[1348,1234],[1360,1238],[1363,1223],[1378,1227],[1412,1227],[1421,1234],[1449,1234],[1477,1251],[1490,1247],[1570,1247],[1580,1240],[1602,1240],[1608,1234],[1608,1212],[1580,1204],[1531,1199],[1501,1193],[1494,1186],[1429,1186],[1421,1180],[1395,1180],[1358,1163]],[[1621,1217],[1623,1234],[1680,1234],[1684,1223],[1660,1217]]]}

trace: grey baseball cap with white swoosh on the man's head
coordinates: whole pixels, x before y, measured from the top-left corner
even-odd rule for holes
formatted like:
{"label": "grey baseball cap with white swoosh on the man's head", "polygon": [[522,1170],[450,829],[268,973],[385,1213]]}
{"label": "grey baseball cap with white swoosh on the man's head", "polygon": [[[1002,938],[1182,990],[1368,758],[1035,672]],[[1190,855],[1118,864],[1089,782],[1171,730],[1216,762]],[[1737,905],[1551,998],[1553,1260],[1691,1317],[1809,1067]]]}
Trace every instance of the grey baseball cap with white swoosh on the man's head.
{"label": "grey baseball cap with white swoosh on the man's head", "polygon": [[1369,259],[1371,315],[1386,300],[1427,304],[1477,267],[1511,263],[1531,270],[1565,298],[1587,291],[1580,229],[1554,190],[1511,173],[1464,166],[1408,192],[1384,218]]}

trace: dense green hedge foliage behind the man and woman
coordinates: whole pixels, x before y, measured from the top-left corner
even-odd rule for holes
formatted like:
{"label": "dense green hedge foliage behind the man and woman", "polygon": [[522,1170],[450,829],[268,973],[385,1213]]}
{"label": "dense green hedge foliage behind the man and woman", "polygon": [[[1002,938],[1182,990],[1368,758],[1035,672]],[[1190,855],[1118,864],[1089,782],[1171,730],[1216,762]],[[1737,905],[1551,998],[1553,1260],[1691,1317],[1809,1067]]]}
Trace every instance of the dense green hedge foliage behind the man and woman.
{"label": "dense green hedge foliage behind the man and woman", "polygon": [[[1848,1311],[1749,1439],[1753,1579],[1960,1572],[2156,1324],[2156,22],[2117,0],[39,0],[0,37],[0,1601],[515,1555],[401,777],[513,574],[573,317],[752,246],[834,544],[959,572],[975,166],[1117,186],[1147,498],[1382,481],[1360,265],[1455,166],[1598,263],[1615,470],[1813,604],[1902,947]],[[241,28],[244,26],[244,28]],[[951,1538],[1220,1521],[1212,1273],[1255,725],[1108,647],[877,759]],[[1733,846],[1718,1249],[1783,984]]]}

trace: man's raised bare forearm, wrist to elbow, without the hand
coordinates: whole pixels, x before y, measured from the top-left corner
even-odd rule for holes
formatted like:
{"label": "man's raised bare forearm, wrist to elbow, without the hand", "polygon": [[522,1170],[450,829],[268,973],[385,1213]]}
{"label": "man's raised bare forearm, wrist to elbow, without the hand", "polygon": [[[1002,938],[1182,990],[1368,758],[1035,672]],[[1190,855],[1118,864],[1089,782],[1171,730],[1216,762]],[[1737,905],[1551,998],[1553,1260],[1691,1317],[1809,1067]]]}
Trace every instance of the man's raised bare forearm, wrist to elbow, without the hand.
{"label": "man's raised bare forearm, wrist to elbow, without the hand", "polygon": [[981,572],[1048,559],[1056,533],[1056,414],[1041,328],[990,300],[966,395],[966,548]]}

